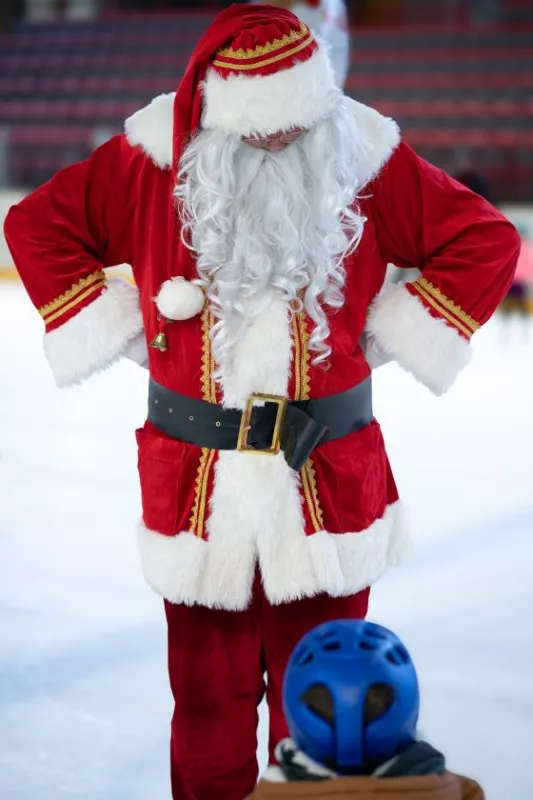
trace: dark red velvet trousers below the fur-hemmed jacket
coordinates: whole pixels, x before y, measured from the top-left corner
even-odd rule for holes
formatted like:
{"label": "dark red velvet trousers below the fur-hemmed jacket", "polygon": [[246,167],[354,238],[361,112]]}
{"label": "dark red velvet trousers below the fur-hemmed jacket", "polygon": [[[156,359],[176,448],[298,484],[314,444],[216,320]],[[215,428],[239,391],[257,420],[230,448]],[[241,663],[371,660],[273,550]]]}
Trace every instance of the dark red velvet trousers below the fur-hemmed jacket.
{"label": "dark red velvet trousers below the fur-hemmed jacket", "polygon": [[[246,611],[166,603],[174,800],[244,800],[257,781],[257,708],[270,713],[270,758],[288,735],[282,710],[285,666],[307,631],[364,617],[368,590],[272,606],[256,579]],[[264,677],[267,677],[266,687]]]}

